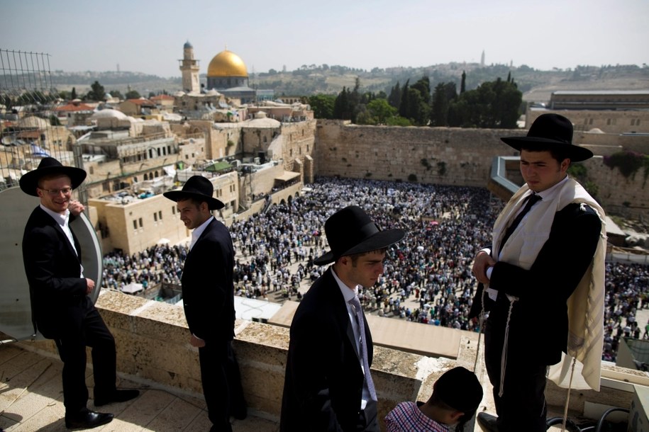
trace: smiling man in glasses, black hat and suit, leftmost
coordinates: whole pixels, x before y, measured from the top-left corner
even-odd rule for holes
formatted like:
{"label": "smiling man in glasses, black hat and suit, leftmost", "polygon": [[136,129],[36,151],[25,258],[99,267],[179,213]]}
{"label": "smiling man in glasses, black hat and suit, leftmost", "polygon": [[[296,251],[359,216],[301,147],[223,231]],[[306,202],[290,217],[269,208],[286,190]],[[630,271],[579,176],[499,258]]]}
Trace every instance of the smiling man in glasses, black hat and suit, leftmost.
{"label": "smiling man in glasses, black hat and suit, leftmost", "polygon": [[84,211],[72,200],[84,178],[86,171],[46,157],[20,179],[23,192],[40,198],[23,234],[23,261],[34,329],[55,341],[63,362],[67,428],[94,428],[113,419],[87,409],[86,346],[92,348],[96,407],[140,394],[116,389],[115,339],[88,296],[95,282],[82,274],[81,248],[70,229],[69,221]]}

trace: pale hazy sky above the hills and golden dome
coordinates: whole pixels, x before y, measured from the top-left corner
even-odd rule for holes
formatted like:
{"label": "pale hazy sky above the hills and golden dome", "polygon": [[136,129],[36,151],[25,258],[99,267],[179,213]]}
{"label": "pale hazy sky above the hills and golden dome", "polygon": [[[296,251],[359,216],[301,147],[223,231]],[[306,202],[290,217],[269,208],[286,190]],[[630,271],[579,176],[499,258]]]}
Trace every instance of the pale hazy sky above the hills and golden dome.
{"label": "pale hazy sky above the hills and golden dome", "polygon": [[[649,64],[648,0],[0,0],[0,48],[50,55],[65,72],[201,74],[226,47],[248,72],[301,65],[447,62]],[[119,66],[118,66],[119,65]]]}

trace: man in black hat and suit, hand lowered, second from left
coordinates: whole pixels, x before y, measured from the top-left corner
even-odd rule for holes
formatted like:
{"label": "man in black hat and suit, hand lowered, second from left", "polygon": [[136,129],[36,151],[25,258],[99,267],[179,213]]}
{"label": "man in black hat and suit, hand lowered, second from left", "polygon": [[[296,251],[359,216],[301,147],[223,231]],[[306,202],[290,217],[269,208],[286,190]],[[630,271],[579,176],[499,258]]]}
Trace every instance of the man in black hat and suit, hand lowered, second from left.
{"label": "man in black hat and suit, hand lowered, second from left", "polygon": [[192,176],[180,191],[163,193],[177,203],[180,220],[193,229],[182,270],[182,303],[189,343],[199,348],[201,382],[213,432],[232,431],[230,416],[244,419],[234,339],[234,247],[226,225],[212,216],[223,203],[209,179]]}

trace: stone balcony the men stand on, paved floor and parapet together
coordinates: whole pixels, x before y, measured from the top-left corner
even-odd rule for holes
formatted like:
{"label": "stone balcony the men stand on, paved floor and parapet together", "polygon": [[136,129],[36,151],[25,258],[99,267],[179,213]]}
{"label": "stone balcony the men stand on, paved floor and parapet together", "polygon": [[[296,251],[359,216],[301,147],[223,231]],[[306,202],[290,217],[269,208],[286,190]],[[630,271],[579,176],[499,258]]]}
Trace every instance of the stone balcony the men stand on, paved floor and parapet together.
{"label": "stone balcony the men stand on, paved floor and parapet together", "polygon": [[[249,416],[243,421],[233,421],[235,432],[279,430],[289,343],[286,325],[292,319],[295,305],[284,303],[268,320],[270,324],[243,319],[236,322],[233,346],[241,368]],[[142,390],[140,397],[133,401],[101,407],[99,411],[113,412],[116,419],[98,430],[208,430],[210,423],[201,394],[198,353],[189,346],[182,308],[106,290],[99,295],[96,306],[116,339],[118,387]],[[368,324],[375,337],[372,376],[379,394],[380,419],[398,402],[428,399],[433,382],[448,368],[463,365],[473,370],[476,350],[482,342],[474,332],[371,314]],[[400,327],[404,325],[409,326],[406,336]],[[476,364],[476,373],[484,387],[479,410],[493,413],[482,349],[480,345]],[[54,343],[40,340],[3,345],[0,365],[0,428],[6,432],[65,431],[60,385],[62,365]],[[91,387],[90,368],[87,382]],[[635,401],[637,409],[639,401],[643,401],[644,411],[639,410],[636,421],[638,418],[644,421],[644,429],[638,431],[646,431],[649,375],[604,365],[601,382],[601,392],[571,392],[569,416],[586,413],[597,418],[597,412],[609,407],[629,409]],[[562,416],[567,390],[548,382],[546,397],[550,408],[548,417]],[[93,407],[91,400],[89,408]],[[629,417],[617,414],[623,421]],[[473,427],[467,430],[481,431],[479,426]],[[551,430],[559,431],[560,426]]]}

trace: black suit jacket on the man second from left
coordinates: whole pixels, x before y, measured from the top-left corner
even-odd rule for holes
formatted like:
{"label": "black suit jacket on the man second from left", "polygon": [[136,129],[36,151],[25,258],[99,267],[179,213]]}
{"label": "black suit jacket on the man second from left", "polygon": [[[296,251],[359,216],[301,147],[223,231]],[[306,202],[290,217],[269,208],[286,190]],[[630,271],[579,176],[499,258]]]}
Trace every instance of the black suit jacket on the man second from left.
{"label": "black suit jacket on the man second from left", "polygon": [[181,277],[189,331],[206,344],[234,338],[233,271],[230,232],[212,219],[187,254]]}

